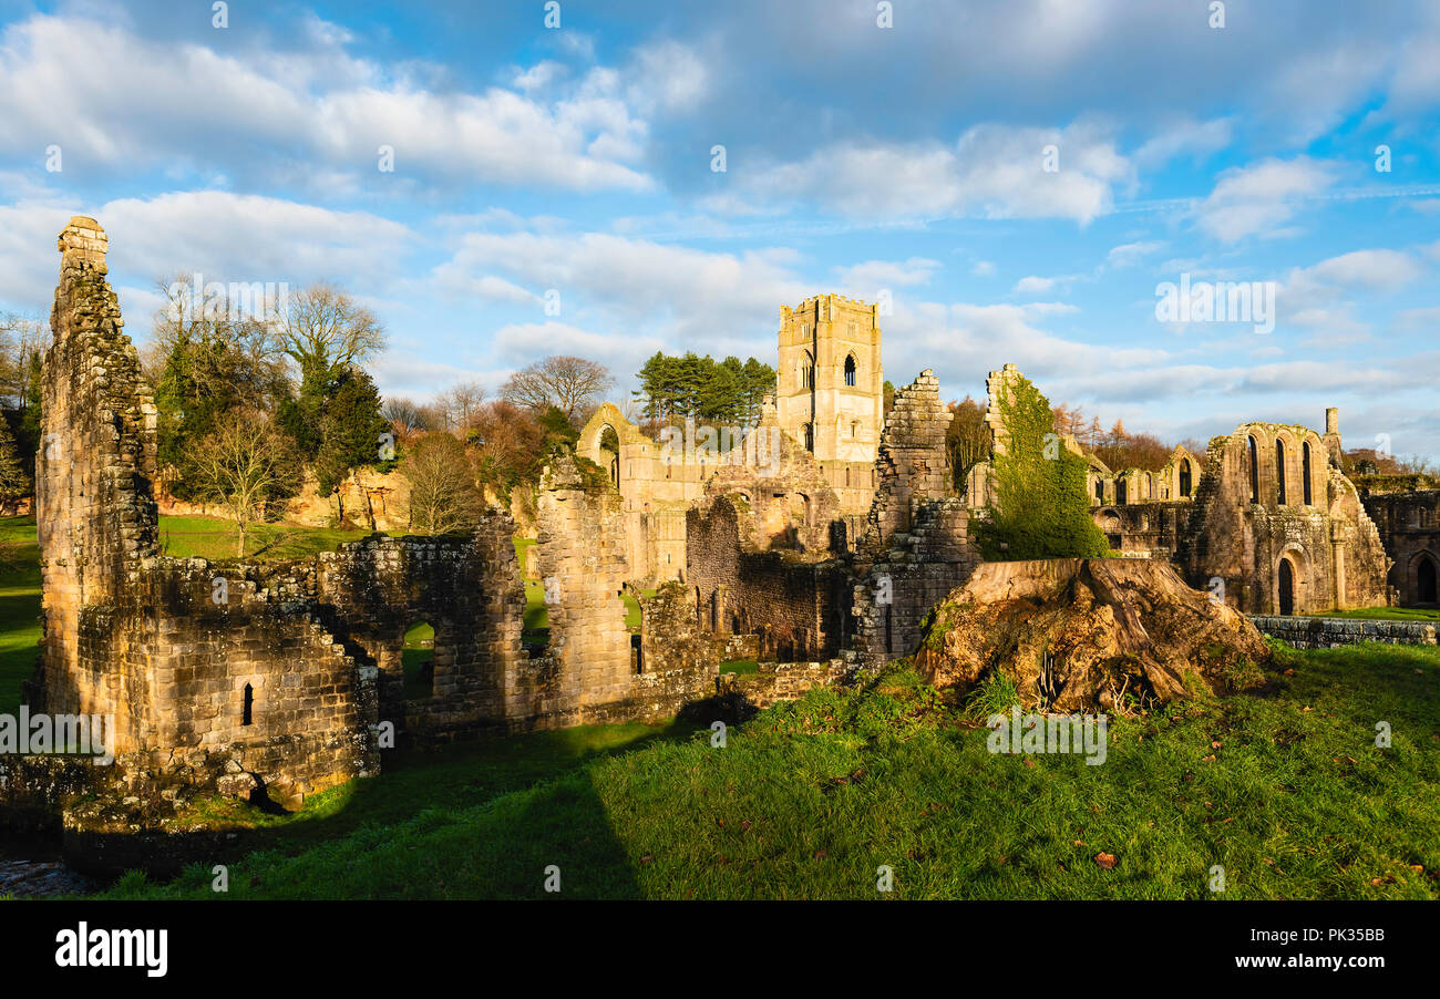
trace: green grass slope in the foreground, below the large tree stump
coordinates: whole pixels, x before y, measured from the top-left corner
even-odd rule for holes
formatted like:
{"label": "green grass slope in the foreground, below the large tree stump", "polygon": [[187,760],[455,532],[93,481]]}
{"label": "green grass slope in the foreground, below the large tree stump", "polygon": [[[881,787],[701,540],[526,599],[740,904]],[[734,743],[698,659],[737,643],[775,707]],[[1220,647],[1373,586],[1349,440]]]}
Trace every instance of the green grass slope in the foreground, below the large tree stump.
{"label": "green grass slope in the foreground, below the large tree stump", "polygon": [[[1211,898],[1214,865],[1223,898],[1440,897],[1440,651],[1282,655],[1295,672],[1266,694],[1112,720],[1103,766],[991,754],[904,671],[776,705],[724,749],[625,727],[566,759],[564,733],[410,757],[278,819],[353,831],[274,841],[232,865],[230,897],[543,898],[552,864],[570,898]],[[528,740],[544,764],[526,770]],[[131,874],[109,894],[209,882]]]}

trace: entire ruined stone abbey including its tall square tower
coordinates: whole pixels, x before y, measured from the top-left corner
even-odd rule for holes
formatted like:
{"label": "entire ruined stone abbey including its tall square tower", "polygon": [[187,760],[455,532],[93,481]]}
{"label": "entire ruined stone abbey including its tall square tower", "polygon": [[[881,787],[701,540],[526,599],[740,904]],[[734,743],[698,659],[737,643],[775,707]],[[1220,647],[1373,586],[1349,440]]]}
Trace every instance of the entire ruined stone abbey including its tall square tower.
{"label": "entire ruined stone abbey including its tall square tower", "polygon": [[[521,641],[504,511],[464,537],[374,534],[287,563],[167,557],[156,410],[107,248],[88,217],[59,238],[27,701],[114,715],[117,751],[151,785],[295,808],[376,773],[395,738],[665,718],[724,690],[763,704],[913,655],[932,607],[982,563],[988,466],[955,488],[932,371],[886,415],[878,311],[837,295],[782,309],[776,392],[729,449],[703,428],[652,439],[603,406],[576,453],[550,462],[541,651]],[[1017,377],[991,373],[991,397]],[[1005,443],[996,430],[995,453]],[[1333,412],[1323,435],[1246,423],[1159,474],[1092,462],[1092,515],[1117,556],[1171,563],[1243,613],[1434,603],[1434,495],[1367,505],[1338,459]],[[638,633],[624,593],[639,599]],[[435,626],[433,677],[406,697],[402,641],[419,620]],[[737,655],[765,666],[723,678]]]}

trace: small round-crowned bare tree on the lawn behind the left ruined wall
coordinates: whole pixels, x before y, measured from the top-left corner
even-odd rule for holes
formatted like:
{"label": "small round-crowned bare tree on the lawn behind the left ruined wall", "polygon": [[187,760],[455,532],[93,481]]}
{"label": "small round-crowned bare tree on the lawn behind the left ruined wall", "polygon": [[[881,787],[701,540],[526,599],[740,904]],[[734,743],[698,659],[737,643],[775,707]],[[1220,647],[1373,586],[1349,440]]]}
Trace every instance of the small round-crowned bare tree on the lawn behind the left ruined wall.
{"label": "small round-crowned bare tree on the lawn behind the left ruined wall", "polygon": [[223,507],[239,528],[238,559],[245,556],[251,524],[264,517],[271,500],[289,495],[300,476],[300,459],[289,439],[259,412],[235,410],[223,416],[200,440],[192,462],[196,494]]}

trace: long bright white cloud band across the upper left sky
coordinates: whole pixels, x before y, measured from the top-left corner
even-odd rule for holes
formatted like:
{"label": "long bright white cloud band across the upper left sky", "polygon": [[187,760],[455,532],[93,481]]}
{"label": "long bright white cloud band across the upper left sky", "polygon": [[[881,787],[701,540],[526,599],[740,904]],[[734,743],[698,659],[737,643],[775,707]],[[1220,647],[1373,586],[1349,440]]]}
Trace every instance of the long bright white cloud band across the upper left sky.
{"label": "long bright white cloud band across the upper left sky", "polygon": [[[251,58],[33,16],[0,36],[0,145],[53,143],[66,170],[127,171],[200,170],[243,151],[245,161],[271,163],[289,177],[311,170],[317,187],[331,171],[373,180],[377,150],[390,145],[396,181],[419,171],[567,190],[652,187],[635,166],[647,125],[621,99],[577,92],[541,102],[504,88],[431,92],[347,56],[343,33],[321,30],[314,40],[321,48],[312,52]],[[274,155],[256,157],[256,147]],[[297,153],[304,167],[291,163]]]}

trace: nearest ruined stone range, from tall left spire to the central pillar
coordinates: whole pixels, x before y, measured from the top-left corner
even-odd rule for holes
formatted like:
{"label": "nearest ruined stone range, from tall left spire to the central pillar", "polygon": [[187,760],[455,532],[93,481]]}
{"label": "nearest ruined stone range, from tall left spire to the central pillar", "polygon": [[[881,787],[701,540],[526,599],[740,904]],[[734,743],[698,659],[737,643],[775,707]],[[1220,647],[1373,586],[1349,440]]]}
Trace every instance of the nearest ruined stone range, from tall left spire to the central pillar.
{"label": "nearest ruined stone range, from tall left spire to the central pillar", "polygon": [[[157,543],[156,409],[105,282],[107,238],[59,239],[43,363],[36,497],[43,638],[32,711],[114,717],[134,787],[261,792],[288,808],[412,743],[583,721],[671,717],[714,692],[713,643],[685,648],[675,593],[625,628],[618,497],[573,459],[547,471],[540,569],[550,645],[521,646],[524,590],[508,514],[468,537],[372,535],[288,563],[171,559]],[[428,697],[406,700],[406,630],[435,628]],[[693,629],[691,629],[693,630]]]}

